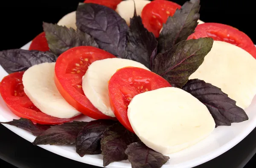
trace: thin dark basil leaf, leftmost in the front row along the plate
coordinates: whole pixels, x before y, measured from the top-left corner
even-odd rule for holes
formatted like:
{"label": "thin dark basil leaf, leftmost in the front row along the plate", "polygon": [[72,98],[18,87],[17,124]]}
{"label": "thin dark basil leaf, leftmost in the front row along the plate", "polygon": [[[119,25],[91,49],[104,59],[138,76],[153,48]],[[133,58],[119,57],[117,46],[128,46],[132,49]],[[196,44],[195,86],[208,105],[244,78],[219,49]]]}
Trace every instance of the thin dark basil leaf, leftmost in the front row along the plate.
{"label": "thin dark basil leaf, leftmost in the front row along the plate", "polygon": [[13,125],[15,127],[24,129],[26,131],[31,132],[35,136],[42,134],[45,130],[50,128],[49,125],[34,124],[31,120],[26,118],[20,118],[19,120],[13,119],[12,121],[9,121],[9,122],[0,122],[0,123]]}

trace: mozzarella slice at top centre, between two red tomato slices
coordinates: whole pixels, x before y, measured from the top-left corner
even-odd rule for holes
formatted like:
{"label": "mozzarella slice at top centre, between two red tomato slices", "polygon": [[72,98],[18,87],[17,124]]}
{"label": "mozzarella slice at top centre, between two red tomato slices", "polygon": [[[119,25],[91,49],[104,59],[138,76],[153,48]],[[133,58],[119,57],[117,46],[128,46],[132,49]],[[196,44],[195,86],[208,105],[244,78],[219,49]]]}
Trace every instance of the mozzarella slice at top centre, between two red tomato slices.
{"label": "mozzarella slice at top centre, between two red tomato slices", "polygon": [[134,2],[136,6],[136,13],[138,16],[145,5],[150,3],[149,0],[123,0],[116,6],[116,12],[126,21],[128,26],[130,26],[130,18],[134,17]]}

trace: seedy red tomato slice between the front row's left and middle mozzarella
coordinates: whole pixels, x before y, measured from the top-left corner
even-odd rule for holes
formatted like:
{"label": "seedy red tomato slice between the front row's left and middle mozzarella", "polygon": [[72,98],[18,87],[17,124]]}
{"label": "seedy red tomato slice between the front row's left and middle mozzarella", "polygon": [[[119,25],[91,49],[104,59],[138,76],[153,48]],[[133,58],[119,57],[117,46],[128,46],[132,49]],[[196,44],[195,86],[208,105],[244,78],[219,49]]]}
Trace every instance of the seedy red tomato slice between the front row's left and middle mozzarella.
{"label": "seedy red tomato slice between the front row's left and middle mozzarella", "polygon": [[82,90],[82,77],[96,60],[115,58],[114,55],[92,46],[70,48],[55,63],[55,85],[64,99],[81,113],[93,119],[114,119],[95,108]]}

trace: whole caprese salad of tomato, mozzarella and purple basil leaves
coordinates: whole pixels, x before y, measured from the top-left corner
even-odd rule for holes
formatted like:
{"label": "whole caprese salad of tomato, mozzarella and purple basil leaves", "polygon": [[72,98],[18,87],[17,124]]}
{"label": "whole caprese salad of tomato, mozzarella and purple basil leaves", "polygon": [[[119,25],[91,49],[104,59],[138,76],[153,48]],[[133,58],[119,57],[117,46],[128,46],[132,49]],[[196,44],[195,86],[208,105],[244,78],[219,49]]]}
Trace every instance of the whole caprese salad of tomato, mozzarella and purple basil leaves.
{"label": "whole caprese salad of tomato, mozzarella and purple basil leaves", "polygon": [[[0,51],[0,94],[34,145],[76,144],[103,165],[160,168],[218,126],[248,120],[256,47],[199,20],[200,0],[85,0],[29,50]],[[200,23],[200,24],[199,24]],[[90,122],[76,121],[81,116]]]}

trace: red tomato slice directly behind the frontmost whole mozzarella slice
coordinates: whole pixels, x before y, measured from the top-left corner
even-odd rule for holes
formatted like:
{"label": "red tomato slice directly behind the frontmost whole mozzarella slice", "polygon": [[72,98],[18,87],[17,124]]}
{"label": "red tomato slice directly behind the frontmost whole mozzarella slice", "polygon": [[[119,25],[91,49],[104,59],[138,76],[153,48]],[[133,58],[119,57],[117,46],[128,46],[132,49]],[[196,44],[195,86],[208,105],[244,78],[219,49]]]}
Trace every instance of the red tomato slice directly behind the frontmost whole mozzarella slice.
{"label": "red tomato slice directly behind the frontmost whole mozzarella slice", "polygon": [[136,67],[125,67],[116,71],[108,83],[111,108],[119,122],[134,132],[128,120],[127,110],[131,99],[145,91],[171,87],[163,77]]}

